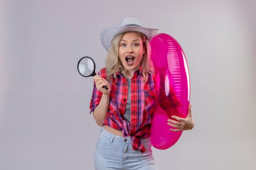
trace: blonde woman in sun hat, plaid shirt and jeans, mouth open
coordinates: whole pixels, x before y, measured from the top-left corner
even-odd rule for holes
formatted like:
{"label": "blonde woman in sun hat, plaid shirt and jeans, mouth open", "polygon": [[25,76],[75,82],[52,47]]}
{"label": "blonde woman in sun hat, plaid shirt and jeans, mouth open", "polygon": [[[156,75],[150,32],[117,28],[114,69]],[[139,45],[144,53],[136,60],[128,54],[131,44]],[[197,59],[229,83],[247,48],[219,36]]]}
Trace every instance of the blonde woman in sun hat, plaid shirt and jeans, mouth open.
{"label": "blonde woman in sun hat, plaid shirt and jeans, mouth open", "polygon": [[[149,44],[157,30],[125,18],[119,26],[101,33],[101,43],[108,51],[106,68],[93,77],[90,103],[90,113],[104,127],[94,154],[96,170],[157,170],[150,143],[155,83]],[[166,120],[176,128],[171,130],[194,126],[191,105],[186,118],[173,118],[177,121]]]}

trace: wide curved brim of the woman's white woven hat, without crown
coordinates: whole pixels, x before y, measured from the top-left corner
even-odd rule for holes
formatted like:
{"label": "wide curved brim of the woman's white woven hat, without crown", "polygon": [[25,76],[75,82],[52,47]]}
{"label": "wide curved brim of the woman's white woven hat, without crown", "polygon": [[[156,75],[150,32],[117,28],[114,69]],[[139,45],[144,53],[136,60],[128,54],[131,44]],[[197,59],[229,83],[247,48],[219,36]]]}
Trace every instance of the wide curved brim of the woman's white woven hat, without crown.
{"label": "wide curved brim of the woman's white woven hat, without crown", "polygon": [[150,42],[158,30],[159,29],[150,29],[141,26],[110,26],[101,32],[101,44],[108,51],[111,41],[117,35],[128,31],[137,31],[143,33]]}

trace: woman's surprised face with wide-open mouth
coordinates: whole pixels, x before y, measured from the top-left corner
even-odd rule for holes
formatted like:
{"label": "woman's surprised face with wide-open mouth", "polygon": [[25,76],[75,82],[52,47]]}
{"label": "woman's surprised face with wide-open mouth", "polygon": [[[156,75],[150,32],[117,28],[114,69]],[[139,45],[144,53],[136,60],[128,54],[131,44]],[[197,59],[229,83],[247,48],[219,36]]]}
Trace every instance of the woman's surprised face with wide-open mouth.
{"label": "woman's surprised face with wide-open mouth", "polygon": [[118,57],[124,66],[124,71],[133,75],[139,68],[144,53],[145,47],[139,33],[130,32],[123,35],[118,47]]}

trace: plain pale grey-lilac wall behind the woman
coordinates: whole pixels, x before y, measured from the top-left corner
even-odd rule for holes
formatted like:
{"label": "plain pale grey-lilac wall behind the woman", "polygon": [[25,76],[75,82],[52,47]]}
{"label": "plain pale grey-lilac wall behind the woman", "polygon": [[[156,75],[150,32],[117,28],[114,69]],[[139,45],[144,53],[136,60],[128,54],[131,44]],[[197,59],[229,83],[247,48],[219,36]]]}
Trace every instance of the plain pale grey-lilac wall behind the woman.
{"label": "plain pale grey-lilac wall behind the woman", "polygon": [[254,0],[1,0],[0,170],[92,170],[100,127],[89,114],[92,78],[106,51],[99,35],[138,18],[180,42],[189,65],[195,128],[167,150],[159,170],[254,170]]}

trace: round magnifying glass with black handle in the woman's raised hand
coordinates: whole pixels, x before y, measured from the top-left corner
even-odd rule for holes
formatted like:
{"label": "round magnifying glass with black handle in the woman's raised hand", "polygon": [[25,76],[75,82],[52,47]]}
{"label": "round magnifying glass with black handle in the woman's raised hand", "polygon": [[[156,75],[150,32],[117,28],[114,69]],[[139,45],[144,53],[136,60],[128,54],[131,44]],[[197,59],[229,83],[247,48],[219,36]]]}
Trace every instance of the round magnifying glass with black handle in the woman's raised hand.
{"label": "round magnifying glass with black handle in the woman's raised hand", "polygon": [[[96,75],[95,62],[91,57],[82,57],[77,64],[78,73],[83,77],[90,77]],[[107,86],[103,86],[108,90]]]}

